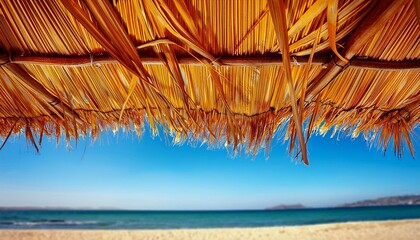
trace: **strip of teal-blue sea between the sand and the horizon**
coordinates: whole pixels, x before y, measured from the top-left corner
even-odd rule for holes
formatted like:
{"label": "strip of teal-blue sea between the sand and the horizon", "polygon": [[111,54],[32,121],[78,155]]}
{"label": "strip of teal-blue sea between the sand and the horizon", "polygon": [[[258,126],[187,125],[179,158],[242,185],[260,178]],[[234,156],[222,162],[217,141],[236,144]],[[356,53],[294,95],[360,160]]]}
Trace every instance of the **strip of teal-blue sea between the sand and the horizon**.
{"label": "strip of teal-blue sea between the sand and the horizon", "polygon": [[420,218],[420,206],[250,211],[3,210],[0,229],[269,227]]}

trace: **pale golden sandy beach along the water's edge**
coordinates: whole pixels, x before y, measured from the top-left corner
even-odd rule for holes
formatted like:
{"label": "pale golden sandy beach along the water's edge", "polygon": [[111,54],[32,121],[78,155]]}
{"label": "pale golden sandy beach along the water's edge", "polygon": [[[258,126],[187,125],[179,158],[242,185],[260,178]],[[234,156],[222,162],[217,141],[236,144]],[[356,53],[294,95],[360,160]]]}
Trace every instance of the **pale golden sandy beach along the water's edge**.
{"label": "pale golden sandy beach along the water's edge", "polygon": [[185,230],[0,230],[2,240],[134,240],[134,239],[420,239],[420,219],[351,222],[292,227]]}

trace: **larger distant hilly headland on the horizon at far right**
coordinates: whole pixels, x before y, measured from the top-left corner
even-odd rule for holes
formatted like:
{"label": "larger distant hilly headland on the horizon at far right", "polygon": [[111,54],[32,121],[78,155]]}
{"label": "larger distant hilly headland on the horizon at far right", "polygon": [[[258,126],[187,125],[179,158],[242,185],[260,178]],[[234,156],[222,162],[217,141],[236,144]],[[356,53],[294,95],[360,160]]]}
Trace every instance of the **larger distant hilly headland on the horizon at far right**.
{"label": "larger distant hilly headland on the horizon at far right", "polygon": [[345,203],[336,207],[368,207],[368,206],[395,206],[395,205],[420,205],[420,195],[406,195],[382,197],[373,200],[363,200],[353,203]]}

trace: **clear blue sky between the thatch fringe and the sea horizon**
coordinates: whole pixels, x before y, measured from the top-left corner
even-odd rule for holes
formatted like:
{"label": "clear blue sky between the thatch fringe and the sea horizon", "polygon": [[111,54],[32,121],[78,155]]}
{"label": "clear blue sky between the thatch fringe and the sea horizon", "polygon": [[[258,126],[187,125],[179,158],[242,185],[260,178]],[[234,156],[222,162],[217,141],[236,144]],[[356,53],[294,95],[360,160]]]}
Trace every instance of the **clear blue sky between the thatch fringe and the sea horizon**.
{"label": "clear blue sky between the thatch fringe and the sea horizon", "polygon": [[305,166],[286,148],[274,140],[269,159],[232,158],[225,149],[120,131],[72,149],[45,139],[36,153],[24,136],[12,136],[0,151],[0,206],[260,209],[420,194],[420,161],[408,151],[398,159],[392,146],[384,155],[362,139],[314,135]]}

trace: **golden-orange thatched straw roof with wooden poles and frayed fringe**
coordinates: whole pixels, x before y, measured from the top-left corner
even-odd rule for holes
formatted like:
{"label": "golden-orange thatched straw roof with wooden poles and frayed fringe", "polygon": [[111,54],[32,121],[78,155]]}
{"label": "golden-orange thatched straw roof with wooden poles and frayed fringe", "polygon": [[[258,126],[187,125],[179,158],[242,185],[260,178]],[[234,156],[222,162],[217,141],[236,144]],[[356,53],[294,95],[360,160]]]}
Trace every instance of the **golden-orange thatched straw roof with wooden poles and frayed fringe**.
{"label": "golden-orange thatched straw roof with wooden poles and frayed fringe", "polygon": [[[0,137],[106,128],[307,163],[329,129],[414,154],[420,8],[409,0],[1,0]],[[284,130],[282,130],[284,129]]]}

